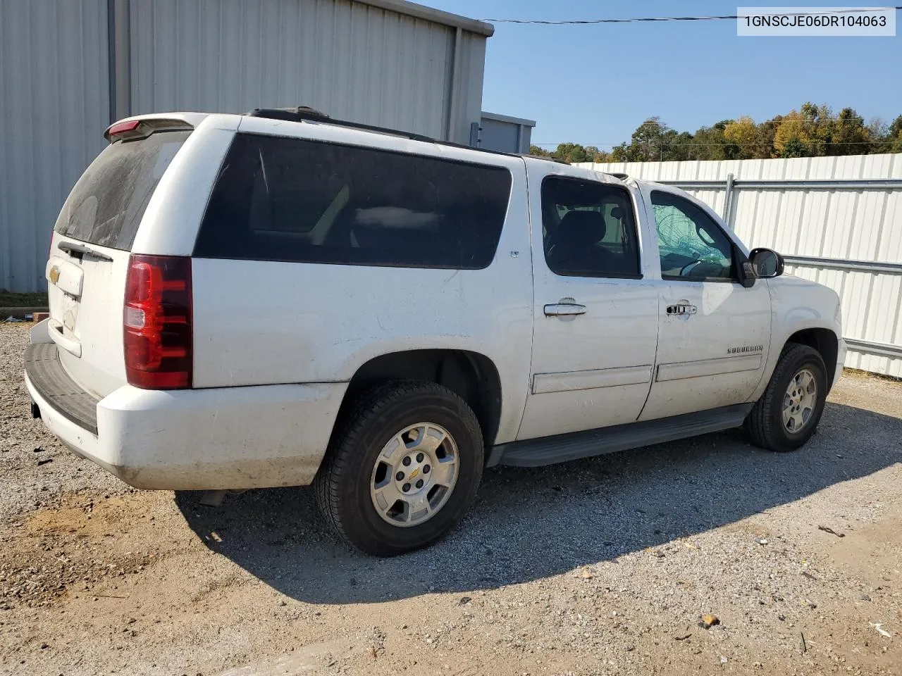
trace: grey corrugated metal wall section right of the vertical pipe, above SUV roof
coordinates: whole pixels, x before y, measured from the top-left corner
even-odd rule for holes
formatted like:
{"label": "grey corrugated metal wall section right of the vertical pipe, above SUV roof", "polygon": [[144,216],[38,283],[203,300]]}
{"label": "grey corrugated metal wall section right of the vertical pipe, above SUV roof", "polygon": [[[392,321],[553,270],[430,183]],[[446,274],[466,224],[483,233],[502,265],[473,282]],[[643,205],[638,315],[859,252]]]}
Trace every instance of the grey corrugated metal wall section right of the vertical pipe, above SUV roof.
{"label": "grey corrugated metal wall section right of the vertical pipe, above SUV roof", "polygon": [[468,142],[484,34],[350,0],[132,0],[131,114],[309,105]]}

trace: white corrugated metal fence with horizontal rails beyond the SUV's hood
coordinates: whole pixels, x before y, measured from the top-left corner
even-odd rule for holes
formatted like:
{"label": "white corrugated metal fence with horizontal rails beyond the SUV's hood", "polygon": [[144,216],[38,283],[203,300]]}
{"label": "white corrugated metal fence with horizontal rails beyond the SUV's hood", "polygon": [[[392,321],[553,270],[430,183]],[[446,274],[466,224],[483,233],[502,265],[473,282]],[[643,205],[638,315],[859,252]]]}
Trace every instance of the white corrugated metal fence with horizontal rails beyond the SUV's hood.
{"label": "white corrugated metal fence with horizontal rails beyond the SUV's hood", "polygon": [[839,293],[846,366],[902,377],[902,154],[580,166],[673,183],[727,215],[750,248]]}

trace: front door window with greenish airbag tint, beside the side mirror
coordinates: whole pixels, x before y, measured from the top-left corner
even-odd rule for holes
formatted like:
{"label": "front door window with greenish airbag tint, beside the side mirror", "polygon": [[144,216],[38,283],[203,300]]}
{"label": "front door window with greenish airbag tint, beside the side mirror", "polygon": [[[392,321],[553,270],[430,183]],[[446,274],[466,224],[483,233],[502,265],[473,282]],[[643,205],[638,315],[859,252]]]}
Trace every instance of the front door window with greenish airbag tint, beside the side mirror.
{"label": "front door window with greenish airbag tint, beside the side mirror", "polygon": [[733,246],[711,216],[689,200],[651,193],[663,279],[736,281]]}

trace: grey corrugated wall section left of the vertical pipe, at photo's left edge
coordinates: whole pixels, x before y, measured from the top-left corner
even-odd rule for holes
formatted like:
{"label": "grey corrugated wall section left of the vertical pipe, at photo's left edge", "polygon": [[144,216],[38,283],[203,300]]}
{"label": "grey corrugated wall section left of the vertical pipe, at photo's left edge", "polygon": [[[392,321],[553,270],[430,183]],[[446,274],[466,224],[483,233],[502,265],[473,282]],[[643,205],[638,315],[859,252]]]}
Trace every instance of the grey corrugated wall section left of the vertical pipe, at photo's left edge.
{"label": "grey corrugated wall section left of the vertical pipe, at photo's left edge", "polygon": [[46,288],[63,200],[106,145],[106,0],[0,0],[0,288]]}

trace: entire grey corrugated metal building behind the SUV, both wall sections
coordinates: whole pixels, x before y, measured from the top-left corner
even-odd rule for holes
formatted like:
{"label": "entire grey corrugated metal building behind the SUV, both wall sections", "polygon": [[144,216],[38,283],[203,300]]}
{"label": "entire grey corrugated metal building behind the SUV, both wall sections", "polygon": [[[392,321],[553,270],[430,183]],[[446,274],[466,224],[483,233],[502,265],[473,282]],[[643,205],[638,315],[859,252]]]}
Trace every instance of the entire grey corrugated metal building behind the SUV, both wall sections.
{"label": "entire grey corrugated metal building behind the SUV, both wall sections", "polygon": [[310,105],[466,143],[491,34],[404,0],[0,0],[0,288],[46,288],[111,119]]}

